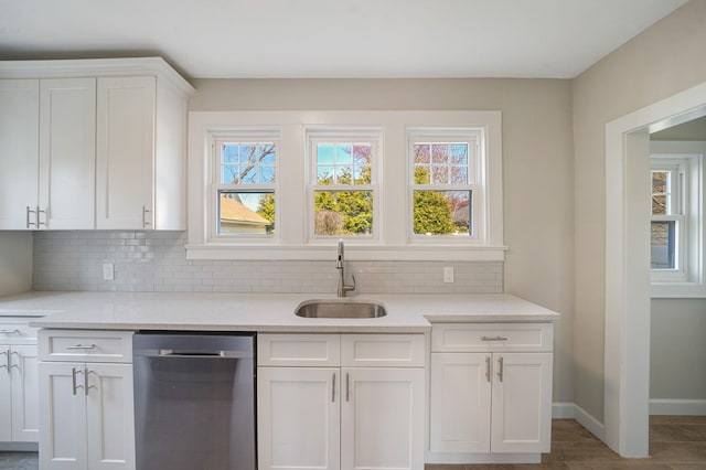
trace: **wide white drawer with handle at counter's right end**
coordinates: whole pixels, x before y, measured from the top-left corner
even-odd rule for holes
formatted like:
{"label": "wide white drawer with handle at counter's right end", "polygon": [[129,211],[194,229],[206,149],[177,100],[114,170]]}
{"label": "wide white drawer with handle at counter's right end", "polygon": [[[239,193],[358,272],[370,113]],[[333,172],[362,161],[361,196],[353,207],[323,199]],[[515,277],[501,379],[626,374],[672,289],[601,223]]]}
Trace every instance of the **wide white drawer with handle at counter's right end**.
{"label": "wide white drawer with handle at counter's right end", "polygon": [[552,351],[552,323],[434,323],[431,351]]}

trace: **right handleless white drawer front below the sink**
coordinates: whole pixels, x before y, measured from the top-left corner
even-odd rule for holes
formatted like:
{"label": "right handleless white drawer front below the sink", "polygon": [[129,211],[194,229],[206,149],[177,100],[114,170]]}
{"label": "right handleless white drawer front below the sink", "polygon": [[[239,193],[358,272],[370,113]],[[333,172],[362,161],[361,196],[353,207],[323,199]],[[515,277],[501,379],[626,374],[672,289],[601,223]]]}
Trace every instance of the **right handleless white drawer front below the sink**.
{"label": "right handleless white drawer front below the sink", "polygon": [[343,334],[344,367],[424,367],[424,334]]}

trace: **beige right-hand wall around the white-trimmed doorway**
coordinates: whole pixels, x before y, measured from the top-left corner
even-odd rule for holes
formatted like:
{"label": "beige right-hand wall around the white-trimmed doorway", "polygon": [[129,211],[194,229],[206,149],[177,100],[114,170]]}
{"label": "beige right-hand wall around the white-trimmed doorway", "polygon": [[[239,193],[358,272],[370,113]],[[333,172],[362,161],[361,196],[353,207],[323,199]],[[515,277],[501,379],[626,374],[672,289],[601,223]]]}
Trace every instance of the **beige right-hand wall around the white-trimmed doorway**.
{"label": "beige right-hand wall around the white-trimmed doorway", "polygon": [[706,82],[706,1],[692,0],[573,82],[576,403],[603,416],[606,124]]}

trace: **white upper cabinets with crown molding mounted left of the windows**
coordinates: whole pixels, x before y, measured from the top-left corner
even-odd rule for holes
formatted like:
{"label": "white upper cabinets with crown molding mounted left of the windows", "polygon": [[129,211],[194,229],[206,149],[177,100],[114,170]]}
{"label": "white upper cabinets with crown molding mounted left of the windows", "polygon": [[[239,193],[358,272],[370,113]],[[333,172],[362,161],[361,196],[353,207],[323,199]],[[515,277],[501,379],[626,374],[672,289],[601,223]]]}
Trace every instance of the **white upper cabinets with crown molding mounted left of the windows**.
{"label": "white upper cabinets with crown molding mounted left of the windows", "polygon": [[185,229],[186,98],[159,57],[0,67],[0,229]]}

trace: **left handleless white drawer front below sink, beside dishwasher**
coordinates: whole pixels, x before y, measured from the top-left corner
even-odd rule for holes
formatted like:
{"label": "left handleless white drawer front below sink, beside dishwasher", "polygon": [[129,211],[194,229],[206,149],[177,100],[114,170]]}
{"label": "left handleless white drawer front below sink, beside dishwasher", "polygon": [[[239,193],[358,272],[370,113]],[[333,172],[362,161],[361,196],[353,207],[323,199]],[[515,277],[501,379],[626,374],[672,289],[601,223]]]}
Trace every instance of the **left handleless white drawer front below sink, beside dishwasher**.
{"label": "left handleless white drawer front below sink, beside dishwasher", "polygon": [[339,366],[341,365],[341,337],[298,333],[258,334],[257,365]]}

